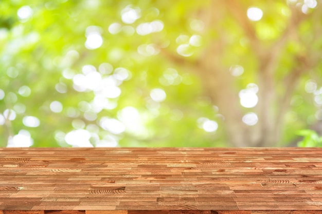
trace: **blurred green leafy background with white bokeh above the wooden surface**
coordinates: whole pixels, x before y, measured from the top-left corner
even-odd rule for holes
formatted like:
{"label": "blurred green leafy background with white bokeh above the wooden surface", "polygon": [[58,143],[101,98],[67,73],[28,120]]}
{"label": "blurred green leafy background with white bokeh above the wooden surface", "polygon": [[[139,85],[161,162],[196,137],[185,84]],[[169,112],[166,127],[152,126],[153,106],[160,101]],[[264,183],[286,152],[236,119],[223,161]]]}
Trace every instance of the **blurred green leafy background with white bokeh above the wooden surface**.
{"label": "blurred green leafy background with white bokeh above the wooden surface", "polygon": [[321,56],[321,0],[3,0],[0,146],[321,146]]}

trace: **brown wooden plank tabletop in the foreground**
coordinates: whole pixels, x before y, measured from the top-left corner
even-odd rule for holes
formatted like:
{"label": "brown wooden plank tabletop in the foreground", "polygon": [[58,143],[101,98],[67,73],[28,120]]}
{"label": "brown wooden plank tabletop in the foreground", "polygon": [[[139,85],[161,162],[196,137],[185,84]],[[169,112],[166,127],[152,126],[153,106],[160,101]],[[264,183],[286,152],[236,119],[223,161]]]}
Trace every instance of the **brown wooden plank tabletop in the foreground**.
{"label": "brown wooden plank tabletop in the foreground", "polygon": [[322,149],[0,148],[0,210],[322,213]]}

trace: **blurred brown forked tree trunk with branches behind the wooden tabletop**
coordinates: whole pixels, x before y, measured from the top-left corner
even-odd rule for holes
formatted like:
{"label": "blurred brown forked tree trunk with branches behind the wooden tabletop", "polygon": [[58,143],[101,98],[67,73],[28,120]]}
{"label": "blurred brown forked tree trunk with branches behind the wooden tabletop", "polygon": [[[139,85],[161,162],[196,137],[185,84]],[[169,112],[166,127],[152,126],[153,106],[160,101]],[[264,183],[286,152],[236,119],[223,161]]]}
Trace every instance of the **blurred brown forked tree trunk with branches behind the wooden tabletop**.
{"label": "blurred brown forked tree trunk with branches behind the wooden tabletop", "polygon": [[[280,59],[280,54],[285,41],[293,34],[294,28],[298,24],[298,17],[295,10],[290,18],[290,25],[281,37],[271,46],[263,44],[258,40],[255,29],[246,17],[246,8],[243,8],[237,1],[227,0],[226,2],[211,2],[211,9],[203,11],[200,18],[206,23],[208,30],[213,29],[219,32],[219,38],[213,39],[208,44],[198,61],[198,72],[201,76],[207,95],[211,98],[214,105],[219,107],[220,113],[224,116],[224,129],[229,143],[236,147],[271,147],[279,143],[281,130],[283,128],[283,115],[290,107],[290,98],[294,90],[294,83],[300,75],[295,78],[291,76],[290,87],[285,87],[283,100],[280,101],[276,93],[274,75]],[[223,67],[221,57],[227,45],[225,33],[217,23],[227,11],[217,10],[226,8],[236,17],[244,30],[245,36],[250,41],[250,47],[254,56],[257,57],[258,64],[258,86],[259,102],[252,109],[258,115],[258,123],[248,126],[242,122],[243,107],[239,102],[239,91],[234,90],[232,83],[233,76],[228,72],[228,68]],[[213,25],[216,23],[216,25]],[[267,47],[267,48],[265,48]],[[292,72],[291,72],[292,73]],[[283,84],[283,83],[278,83]],[[279,108],[281,105],[281,108]],[[277,106],[277,108],[276,108]]]}

